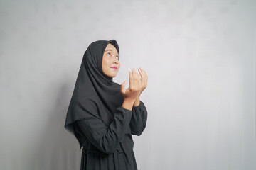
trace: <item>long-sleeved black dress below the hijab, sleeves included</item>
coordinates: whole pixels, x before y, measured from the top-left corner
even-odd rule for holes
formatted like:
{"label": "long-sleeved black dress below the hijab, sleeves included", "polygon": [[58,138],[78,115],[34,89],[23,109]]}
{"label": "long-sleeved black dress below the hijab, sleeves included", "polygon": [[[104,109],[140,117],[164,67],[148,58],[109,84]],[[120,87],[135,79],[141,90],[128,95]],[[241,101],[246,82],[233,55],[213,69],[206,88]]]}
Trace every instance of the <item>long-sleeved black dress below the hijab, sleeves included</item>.
{"label": "long-sleeved black dress below the hijab, sleeves included", "polygon": [[[132,135],[142,134],[146,120],[142,101],[132,111],[118,107],[109,127],[99,118],[78,120],[76,130],[84,139],[81,170],[137,170]],[[124,148],[120,145],[122,140],[127,144]]]}

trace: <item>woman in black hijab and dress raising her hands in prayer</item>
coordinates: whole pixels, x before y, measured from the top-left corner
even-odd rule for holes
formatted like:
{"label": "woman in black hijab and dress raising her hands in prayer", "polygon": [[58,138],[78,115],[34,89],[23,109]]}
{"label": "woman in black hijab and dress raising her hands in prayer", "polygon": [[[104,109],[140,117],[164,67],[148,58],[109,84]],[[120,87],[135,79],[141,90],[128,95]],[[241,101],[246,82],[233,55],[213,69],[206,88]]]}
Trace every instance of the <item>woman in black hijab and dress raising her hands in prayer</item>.
{"label": "woman in black hijab and dress raising her hands in prayer", "polygon": [[81,170],[134,170],[132,135],[146,127],[147,111],[139,100],[146,89],[143,69],[129,70],[129,88],[112,81],[119,71],[116,40],[92,42],[82,64],[70,100],[65,128],[82,147]]}

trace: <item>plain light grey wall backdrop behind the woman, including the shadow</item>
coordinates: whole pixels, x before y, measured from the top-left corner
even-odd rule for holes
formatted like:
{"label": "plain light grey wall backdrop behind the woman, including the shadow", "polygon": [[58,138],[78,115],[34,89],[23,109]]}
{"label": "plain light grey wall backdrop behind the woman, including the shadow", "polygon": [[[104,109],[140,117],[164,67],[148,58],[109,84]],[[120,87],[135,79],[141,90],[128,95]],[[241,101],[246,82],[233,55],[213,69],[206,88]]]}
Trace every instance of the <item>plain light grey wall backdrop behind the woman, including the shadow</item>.
{"label": "plain light grey wall backdrop behind the woman, including the shadow", "polygon": [[[256,1],[0,4],[0,169],[80,169],[64,129],[82,55],[115,39],[121,68],[149,75],[140,170],[254,170]],[[127,86],[128,87],[128,86]]]}

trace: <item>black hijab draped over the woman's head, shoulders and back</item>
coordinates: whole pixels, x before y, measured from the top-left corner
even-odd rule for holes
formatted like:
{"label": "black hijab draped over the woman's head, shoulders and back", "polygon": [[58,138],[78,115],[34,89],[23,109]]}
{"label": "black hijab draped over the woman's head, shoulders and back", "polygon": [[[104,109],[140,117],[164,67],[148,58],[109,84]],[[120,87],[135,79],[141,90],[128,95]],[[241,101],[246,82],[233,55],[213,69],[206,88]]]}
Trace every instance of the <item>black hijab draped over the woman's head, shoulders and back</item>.
{"label": "black hijab draped over the woman's head, shoulders and back", "polygon": [[78,139],[80,149],[81,137],[75,132],[75,121],[97,117],[108,126],[124,101],[120,84],[114,83],[112,77],[107,77],[102,71],[102,57],[109,43],[116,47],[119,54],[116,40],[97,40],[87,47],[68,106],[64,127]]}

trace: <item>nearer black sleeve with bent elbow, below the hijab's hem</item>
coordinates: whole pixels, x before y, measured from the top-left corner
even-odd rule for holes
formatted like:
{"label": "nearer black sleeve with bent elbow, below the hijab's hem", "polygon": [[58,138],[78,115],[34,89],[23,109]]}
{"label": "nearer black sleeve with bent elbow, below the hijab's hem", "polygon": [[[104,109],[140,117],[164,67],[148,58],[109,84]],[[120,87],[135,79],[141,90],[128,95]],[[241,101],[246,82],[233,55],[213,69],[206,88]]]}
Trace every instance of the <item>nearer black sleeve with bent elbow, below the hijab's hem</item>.
{"label": "nearer black sleeve with bent elbow, below the hijab's hem", "polygon": [[100,151],[107,154],[113,153],[124,134],[129,128],[129,122],[132,118],[132,111],[123,108],[117,108],[114,114],[114,120],[107,127],[99,118],[89,118],[78,120],[78,126],[85,137]]}

